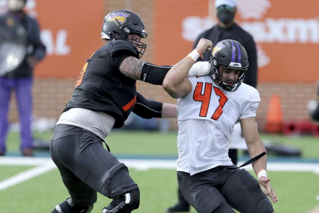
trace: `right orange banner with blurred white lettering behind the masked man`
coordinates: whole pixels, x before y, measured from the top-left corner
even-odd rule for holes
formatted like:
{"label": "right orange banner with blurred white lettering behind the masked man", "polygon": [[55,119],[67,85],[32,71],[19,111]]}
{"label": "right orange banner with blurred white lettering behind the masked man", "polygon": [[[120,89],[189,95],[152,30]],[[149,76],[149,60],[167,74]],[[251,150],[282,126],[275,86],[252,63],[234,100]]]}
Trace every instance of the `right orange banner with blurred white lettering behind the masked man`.
{"label": "right orange banner with blurred white lettering behind the masked man", "polygon": [[[217,23],[214,0],[155,0],[154,63],[172,65]],[[237,0],[236,21],[254,37],[259,82],[319,78],[319,1]]]}

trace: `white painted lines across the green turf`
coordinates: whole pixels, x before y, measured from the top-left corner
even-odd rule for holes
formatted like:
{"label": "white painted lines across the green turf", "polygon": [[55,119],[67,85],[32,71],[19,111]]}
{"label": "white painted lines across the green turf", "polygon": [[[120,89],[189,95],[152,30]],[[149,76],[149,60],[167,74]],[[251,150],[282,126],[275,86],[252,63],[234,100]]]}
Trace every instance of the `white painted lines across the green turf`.
{"label": "white painted lines across the green turf", "polygon": [[[120,162],[126,164],[129,168],[137,170],[148,169],[176,169],[176,160],[154,160],[154,159],[119,159]],[[238,165],[244,162],[238,162]],[[14,186],[38,175],[56,169],[56,165],[51,158],[47,157],[0,157],[0,165],[10,166],[37,166],[27,171],[20,172],[8,179],[0,181],[0,190],[4,190],[10,186]],[[252,166],[244,167],[252,170]],[[319,163],[267,163],[267,171],[294,171],[294,172],[314,172],[319,173]],[[316,198],[319,200],[319,195]]]}

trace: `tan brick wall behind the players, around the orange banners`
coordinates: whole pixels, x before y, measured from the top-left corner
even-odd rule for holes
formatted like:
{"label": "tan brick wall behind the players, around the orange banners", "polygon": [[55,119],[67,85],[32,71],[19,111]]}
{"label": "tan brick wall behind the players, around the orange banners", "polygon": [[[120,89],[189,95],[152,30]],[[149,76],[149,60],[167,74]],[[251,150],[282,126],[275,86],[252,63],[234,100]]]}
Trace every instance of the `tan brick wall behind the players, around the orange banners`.
{"label": "tan brick wall behind the players, around the orange banners", "polygon": [[[148,37],[144,40],[147,43],[147,50],[143,60],[152,62],[153,48],[153,1],[152,0],[107,0],[105,1],[105,15],[117,9],[128,9],[136,12],[144,20]],[[85,63],[85,62],[83,62]],[[80,69],[80,68],[79,68]],[[33,114],[37,117],[58,118],[65,104],[70,99],[75,86],[76,77],[73,79],[42,79],[35,78],[33,87],[34,110]],[[170,98],[164,92],[161,86],[148,85],[144,82],[138,82],[137,90],[156,101],[176,103],[176,100]],[[257,110],[257,122],[262,129],[269,107],[269,100],[272,94],[277,94],[281,98],[284,121],[290,119],[305,119],[307,115],[307,101],[314,98],[315,84],[291,84],[291,83],[260,83],[258,90],[261,96],[261,103]],[[16,103],[13,98],[10,103],[9,120],[15,122],[18,120]],[[171,127],[176,129],[176,119],[171,119]]]}

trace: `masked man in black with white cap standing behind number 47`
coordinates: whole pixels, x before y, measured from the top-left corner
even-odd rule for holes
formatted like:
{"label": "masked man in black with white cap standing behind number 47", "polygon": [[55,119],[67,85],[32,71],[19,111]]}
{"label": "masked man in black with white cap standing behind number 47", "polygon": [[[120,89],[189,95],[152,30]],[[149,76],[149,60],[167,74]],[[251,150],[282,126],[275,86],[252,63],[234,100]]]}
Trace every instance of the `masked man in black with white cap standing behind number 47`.
{"label": "masked man in black with white cap standing behind number 47", "polygon": [[[217,12],[218,23],[210,29],[201,33],[194,42],[193,49],[196,48],[199,40],[205,38],[210,40],[213,45],[224,39],[233,39],[240,42],[246,49],[248,54],[249,68],[246,72],[244,83],[252,87],[257,87],[257,51],[256,44],[253,37],[243,30],[234,20],[237,8],[236,0],[215,0],[215,8]],[[203,58],[199,57],[197,61],[209,61],[211,51],[205,52]],[[240,129],[240,124],[236,124],[235,129]],[[240,139],[241,133],[235,131],[236,135],[233,138]],[[231,141],[229,144],[228,155],[232,162],[236,165],[238,161],[237,149],[239,147],[246,147],[244,140]],[[189,203],[182,196],[181,191],[178,189],[178,202],[168,209],[166,212],[188,212]]]}

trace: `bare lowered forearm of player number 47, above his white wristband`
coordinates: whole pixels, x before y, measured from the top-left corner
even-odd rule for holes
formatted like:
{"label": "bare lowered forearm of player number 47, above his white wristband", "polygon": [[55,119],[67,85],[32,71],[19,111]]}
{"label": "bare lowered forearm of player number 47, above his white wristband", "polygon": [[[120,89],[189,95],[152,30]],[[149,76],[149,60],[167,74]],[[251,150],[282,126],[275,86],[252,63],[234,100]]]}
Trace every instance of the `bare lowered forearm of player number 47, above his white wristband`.
{"label": "bare lowered forearm of player number 47, above his white wristband", "polygon": [[[251,158],[256,157],[259,154],[266,151],[263,143],[260,140],[256,140],[253,143],[248,143],[247,147],[248,147],[248,151],[249,151],[249,156]],[[253,163],[252,165],[253,165],[253,169],[254,169],[256,175],[261,170],[267,171],[267,155],[264,155],[263,157],[258,159],[255,163]]]}

